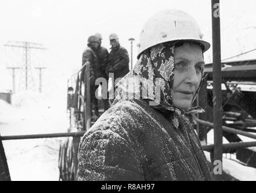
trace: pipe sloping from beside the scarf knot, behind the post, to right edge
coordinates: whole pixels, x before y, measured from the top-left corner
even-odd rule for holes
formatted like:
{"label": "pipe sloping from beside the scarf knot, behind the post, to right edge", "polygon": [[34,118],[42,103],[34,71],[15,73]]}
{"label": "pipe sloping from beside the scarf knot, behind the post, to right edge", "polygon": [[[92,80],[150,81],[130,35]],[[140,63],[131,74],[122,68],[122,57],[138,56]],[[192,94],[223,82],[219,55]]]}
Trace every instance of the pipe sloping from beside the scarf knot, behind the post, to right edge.
{"label": "pipe sloping from beside the scarf knot, behind the post, to right edge", "polygon": [[[200,120],[195,115],[192,115],[192,117],[195,119],[196,122],[199,122],[199,124],[203,124],[203,125],[208,125],[210,127],[214,127],[214,124],[212,122]],[[234,128],[231,128],[231,127],[222,126],[222,130],[223,131],[227,131],[229,133],[240,134],[240,135],[246,136],[248,138],[256,139],[256,135],[255,134],[248,133],[246,131],[240,131],[240,130],[237,130],[237,129],[234,129]]]}

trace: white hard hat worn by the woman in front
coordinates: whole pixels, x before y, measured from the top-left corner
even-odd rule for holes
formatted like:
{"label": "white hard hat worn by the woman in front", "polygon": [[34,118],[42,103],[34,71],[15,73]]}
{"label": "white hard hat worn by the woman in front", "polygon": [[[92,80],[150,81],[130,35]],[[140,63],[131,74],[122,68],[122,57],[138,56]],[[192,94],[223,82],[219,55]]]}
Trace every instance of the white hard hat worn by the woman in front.
{"label": "white hard hat worn by the woman in front", "polygon": [[210,48],[195,19],[180,10],[163,10],[150,17],[144,25],[138,43],[138,55],[151,46],[174,40],[193,40],[203,45],[203,52]]}

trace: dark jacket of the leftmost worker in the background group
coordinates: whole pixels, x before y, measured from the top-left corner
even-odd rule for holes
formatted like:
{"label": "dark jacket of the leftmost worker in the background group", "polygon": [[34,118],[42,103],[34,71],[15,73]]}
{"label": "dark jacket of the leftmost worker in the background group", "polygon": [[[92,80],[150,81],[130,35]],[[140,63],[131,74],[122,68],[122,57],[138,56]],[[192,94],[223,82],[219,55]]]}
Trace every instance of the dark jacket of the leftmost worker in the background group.
{"label": "dark jacket of the leftmost worker in the background group", "polygon": [[[87,47],[82,55],[82,66],[85,62],[90,62],[90,84],[93,86],[95,80],[100,77],[99,62],[96,53],[90,47]],[[81,72],[82,81],[84,81],[85,68]]]}

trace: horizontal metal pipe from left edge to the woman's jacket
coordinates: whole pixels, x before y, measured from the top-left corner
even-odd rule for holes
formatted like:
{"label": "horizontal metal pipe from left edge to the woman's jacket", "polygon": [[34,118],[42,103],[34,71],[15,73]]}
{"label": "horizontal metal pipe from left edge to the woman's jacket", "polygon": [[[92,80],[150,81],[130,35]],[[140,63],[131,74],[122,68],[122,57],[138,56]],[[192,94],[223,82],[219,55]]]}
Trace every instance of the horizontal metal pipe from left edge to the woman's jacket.
{"label": "horizontal metal pipe from left edge to the woman's jacket", "polygon": [[63,138],[63,137],[80,137],[85,134],[85,131],[71,132],[71,133],[45,133],[45,134],[24,134],[13,136],[0,136],[1,140],[15,140],[15,139],[38,139],[38,138]]}

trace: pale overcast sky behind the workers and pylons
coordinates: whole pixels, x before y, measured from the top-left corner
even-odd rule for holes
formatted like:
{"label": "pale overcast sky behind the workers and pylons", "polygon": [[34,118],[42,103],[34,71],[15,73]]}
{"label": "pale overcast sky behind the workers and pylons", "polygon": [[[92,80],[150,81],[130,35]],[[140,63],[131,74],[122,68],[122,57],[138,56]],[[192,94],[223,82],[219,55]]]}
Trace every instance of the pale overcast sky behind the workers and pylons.
{"label": "pale overcast sky behind the workers and pylons", "polygon": [[[222,0],[220,4],[222,58],[256,48],[255,1]],[[11,62],[14,59],[6,60],[7,53],[13,52],[18,55],[17,50],[10,51],[4,48],[3,45],[8,40],[44,45],[47,50],[37,56],[37,60],[40,60],[38,63],[48,68],[45,71],[46,77],[54,76],[55,81],[62,81],[79,69],[87,38],[97,32],[102,34],[102,45],[108,49],[110,48],[108,36],[110,33],[117,33],[120,44],[129,52],[131,48],[128,39],[134,37],[136,39],[133,47],[134,62],[136,62],[136,45],[143,24],[148,17],[166,8],[178,8],[191,14],[199,23],[204,39],[211,42],[210,0],[1,0],[0,89],[6,87],[11,89],[11,74],[5,67],[14,65]],[[248,40],[248,38],[254,39]],[[237,42],[242,46],[238,46]],[[206,62],[211,60],[211,50],[205,55],[205,60]],[[61,77],[63,79],[58,79]],[[67,84],[67,82],[59,82],[59,84]]]}

